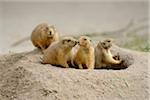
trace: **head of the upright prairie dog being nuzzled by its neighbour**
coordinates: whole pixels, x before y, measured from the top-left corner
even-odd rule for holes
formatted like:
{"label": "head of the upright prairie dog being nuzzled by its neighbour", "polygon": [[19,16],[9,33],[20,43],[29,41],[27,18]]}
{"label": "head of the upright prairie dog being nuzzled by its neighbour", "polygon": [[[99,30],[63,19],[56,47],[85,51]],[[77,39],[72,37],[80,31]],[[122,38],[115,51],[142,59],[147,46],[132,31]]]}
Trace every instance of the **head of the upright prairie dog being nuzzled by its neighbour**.
{"label": "head of the upright prairie dog being nuzzled by its neighbour", "polygon": [[90,47],[91,46],[91,39],[89,38],[89,37],[87,37],[87,36],[81,36],[80,38],[79,38],[79,45],[81,46],[81,47],[85,47],[85,48],[88,48],[88,47]]}

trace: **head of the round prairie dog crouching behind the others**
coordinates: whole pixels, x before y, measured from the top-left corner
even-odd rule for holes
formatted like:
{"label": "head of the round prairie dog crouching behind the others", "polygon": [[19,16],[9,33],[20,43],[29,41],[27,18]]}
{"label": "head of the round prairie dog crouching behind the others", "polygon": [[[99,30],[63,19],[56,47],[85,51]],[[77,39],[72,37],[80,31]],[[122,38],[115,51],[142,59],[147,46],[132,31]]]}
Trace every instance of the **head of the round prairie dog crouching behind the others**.
{"label": "head of the round prairie dog crouching behind the others", "polygon": [[52,25],[52,26],[46,26],[44,28],[44,32],[47,35],[47,37],[52,38],[56,34],[57,31],[54,25]]}

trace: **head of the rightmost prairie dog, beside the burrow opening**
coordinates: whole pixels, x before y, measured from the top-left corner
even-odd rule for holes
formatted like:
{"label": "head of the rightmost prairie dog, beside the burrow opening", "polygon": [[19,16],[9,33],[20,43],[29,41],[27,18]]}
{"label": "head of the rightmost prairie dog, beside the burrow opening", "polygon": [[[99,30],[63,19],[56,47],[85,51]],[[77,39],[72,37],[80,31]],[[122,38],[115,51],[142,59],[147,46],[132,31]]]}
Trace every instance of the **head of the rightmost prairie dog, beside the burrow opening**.
{"label": "head of the rightmost prairie dog, beside the burrow opening", "polygon": [[103,41],[100,41],[98,43],[98,47],[104,48],[104,49],[109,49],[112,46],[112,39],[105,39]]}

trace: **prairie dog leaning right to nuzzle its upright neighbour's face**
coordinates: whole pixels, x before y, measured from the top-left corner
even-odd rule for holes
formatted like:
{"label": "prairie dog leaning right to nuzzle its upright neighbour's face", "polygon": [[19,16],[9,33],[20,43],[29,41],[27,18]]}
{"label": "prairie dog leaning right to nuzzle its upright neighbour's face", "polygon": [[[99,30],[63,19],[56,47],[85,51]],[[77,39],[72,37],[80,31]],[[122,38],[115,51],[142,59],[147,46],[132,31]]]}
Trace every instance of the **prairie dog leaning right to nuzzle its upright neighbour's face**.
{"label": "prairie dog leaning right to nuzzle its upright neighbour's face", "polygon": [[65,37],[59,42],[52,43],[44,51],[42,59],[43,64],[60,65],[68,68],[68,61],[70,60],[71,49],[77,44],[77,40],[72,37]]}

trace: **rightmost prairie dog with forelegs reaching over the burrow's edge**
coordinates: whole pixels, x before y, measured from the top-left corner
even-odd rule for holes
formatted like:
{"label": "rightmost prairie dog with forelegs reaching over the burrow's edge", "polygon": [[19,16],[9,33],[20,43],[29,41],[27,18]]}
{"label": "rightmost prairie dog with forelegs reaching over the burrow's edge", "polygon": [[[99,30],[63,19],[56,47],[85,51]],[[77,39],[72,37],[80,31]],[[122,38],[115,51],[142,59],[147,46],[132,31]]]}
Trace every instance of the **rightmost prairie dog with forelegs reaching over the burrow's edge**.
{"label": "rightmost prairie dog with forelegs reaching over the burrow's edge", "polygon": [[110,52],[112,46],[112,39],[105,39],[100,41],[95,48],[95,67],[104,68],[110,64],[120,64],[121,60],[113,58]]}

